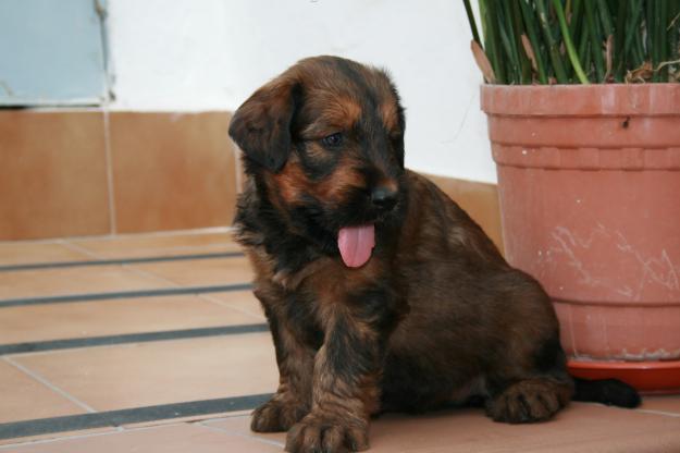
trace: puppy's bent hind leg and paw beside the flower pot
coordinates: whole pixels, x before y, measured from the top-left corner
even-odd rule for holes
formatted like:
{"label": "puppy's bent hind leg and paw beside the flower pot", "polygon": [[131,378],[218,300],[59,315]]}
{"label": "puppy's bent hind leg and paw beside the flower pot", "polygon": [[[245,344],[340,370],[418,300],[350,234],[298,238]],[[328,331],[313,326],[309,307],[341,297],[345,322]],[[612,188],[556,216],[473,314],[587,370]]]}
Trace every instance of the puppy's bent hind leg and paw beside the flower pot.
{"label": "puppy's bent hind leg and paw beside the flower pot", "polygon": [[495,283],[500,298],[492,306],[504,307],[495,327],[503,342],[490,363],[486,413],[510,424],[545,420],[574,389],[555,311],[541,285],[520,271],[498,274]]}

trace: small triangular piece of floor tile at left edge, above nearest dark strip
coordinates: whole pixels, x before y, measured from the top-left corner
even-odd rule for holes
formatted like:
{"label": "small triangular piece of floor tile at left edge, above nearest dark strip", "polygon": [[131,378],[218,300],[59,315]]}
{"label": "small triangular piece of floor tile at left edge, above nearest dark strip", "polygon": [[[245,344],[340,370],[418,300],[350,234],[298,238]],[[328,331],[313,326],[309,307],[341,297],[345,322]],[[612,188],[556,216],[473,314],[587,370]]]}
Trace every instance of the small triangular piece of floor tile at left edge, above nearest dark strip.
{"label": "small triangular piece of floor tile at left edge, above nearest dark strip", "polygon": [[0,359],[0,424],[85,412],[2,359]]}

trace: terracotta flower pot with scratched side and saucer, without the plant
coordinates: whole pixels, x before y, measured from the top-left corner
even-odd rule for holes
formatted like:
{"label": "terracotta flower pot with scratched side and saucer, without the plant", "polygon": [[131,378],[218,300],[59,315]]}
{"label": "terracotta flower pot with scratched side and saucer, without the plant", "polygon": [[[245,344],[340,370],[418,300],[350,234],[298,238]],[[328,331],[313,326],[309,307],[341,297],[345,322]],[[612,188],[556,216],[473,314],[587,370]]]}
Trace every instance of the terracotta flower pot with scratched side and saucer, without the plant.
{"label": "terracotta flower pot with scratched side and saucer, without the plant", "polygon": [[506,257],[551,295],[572,371],[680,390],[680,84],[485,85],[481,102]]}

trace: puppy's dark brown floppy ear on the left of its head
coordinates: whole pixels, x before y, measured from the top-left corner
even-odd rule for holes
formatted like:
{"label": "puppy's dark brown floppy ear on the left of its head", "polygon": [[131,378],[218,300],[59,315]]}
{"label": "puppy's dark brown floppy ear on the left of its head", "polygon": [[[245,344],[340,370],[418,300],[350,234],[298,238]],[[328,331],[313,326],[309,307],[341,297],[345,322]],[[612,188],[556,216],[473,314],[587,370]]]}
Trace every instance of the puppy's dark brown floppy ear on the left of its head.
{"label": "puppy's dark brown floppy ear on the left of its head", "polygon": [[246,157],[270,171],[280,171],[288,160],[299,93],[295,81],[274,79],[255,91],[236,110],[230,124],[230,136]]}

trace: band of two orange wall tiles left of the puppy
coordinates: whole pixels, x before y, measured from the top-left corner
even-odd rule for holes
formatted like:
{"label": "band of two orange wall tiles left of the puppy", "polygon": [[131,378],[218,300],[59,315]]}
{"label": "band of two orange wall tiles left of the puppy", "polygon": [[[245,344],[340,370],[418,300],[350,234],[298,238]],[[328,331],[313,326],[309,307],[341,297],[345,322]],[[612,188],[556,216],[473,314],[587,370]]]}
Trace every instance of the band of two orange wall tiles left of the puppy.
{"label": "band of two orange wall tiles left of the puppy", "polygon": [[227,225],[230,114],[0,111],[0,241]]}

